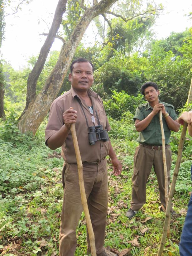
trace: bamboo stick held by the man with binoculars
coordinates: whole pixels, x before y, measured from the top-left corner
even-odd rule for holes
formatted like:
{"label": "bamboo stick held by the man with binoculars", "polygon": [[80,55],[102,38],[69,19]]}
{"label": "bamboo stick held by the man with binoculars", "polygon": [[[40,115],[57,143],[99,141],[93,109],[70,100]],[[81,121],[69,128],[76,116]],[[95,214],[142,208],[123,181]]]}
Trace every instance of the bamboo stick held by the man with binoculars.
{"label": "bamboo stick held by the man with binoculars", "polygon": [[86,198],[86,194],[85,194],[85,187],[84,187],[84,181],[83,181],[83,164],[81,161],[81,155],[80,155],[80,151],[79,151],[79,145],[78,145],[78,141],[77,141],[77,135],[76,135],[74,123],[71,124],[70,130],[71,130],[74,148],[75,148],[75,154],[76,154],[76,158],[77,158],[81,201],[82,201],[82,205],[83,205],[83,209],[84,209],[84,213],[85,213],[85,220],[87,223],[89,241],[90,241],[90,246],[91,246],[91,255],[96,256],[95,236],[94,236],[93,227],[92,227],[91,219],[90,219],[90,215],[89,215],[89,209],[88,209],[88,205],[87,205],[87,198]]}

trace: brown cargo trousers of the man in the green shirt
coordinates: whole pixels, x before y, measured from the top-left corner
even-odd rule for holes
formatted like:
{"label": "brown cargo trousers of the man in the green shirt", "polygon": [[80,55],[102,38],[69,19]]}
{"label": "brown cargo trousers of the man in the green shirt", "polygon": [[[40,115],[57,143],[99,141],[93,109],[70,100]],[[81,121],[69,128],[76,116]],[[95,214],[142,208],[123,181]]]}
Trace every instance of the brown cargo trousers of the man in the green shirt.
{"label": "brown cargo trousers of the man in the green shirt", "polygon": [[[162,149],[153,150],[151,148],[139,145],[134,155],[134,170],[132,176],[132,201],[130,208],[139,210],[146,203],[146,182],[151,172],[152,166],[158,181],[159,197],[161,204],[166,209],[165,201],[165,177],[163,166]],[[168,191],[170,185],[170,167],[171,167],[171,150],[166,148],[166,163],[168,174]],[[171,208],[171,211],[173,209]]]}

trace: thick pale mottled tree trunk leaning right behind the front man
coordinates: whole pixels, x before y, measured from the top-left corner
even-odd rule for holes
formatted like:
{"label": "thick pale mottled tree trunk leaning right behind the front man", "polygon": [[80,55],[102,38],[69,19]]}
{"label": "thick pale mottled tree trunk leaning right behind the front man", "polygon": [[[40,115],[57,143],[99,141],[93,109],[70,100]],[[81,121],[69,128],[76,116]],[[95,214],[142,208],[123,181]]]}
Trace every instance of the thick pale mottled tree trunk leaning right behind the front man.
{"label": "thick pale mottled tree trunk leaning right behind the front man", "polygon": [[100,13],[105,12],[116,1],[118,0],[101,0],[84,12],[84,15],[75,26],[69,41],[63,45],[59,59],[46,80],[44,88],[36,98],[33,98],[26,113],[20,119],[18,127],[22,133],[28,131],[31,131],[33,134],[36,133],[39,125],[49,111],[51,103],[60,90],[75,50],[90,22]]}

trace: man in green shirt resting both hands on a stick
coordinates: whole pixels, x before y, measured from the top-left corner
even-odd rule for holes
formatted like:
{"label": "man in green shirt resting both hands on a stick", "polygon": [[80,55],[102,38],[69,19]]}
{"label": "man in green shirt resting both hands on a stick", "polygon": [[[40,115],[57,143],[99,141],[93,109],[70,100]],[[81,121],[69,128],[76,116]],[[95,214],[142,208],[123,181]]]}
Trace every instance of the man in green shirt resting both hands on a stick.
{"label": "man in green shirt resting both hands on a stick", "polygon": [[[147,103],[139,105],[134,115],[135,127],[139,132],[139,146],[134,155],[134,170],[132,176],[132,201],[126,216],[132,218],[146,203],[146,182],[152,166],[158,181],[161,209],[166,209],[165,178],[162,156],[162,138],[159,121],[159,111],[162,110],[163,127],[166,144],[166,163],[168,174],[168,189],[170,185],[170,131],[178,132],[178,123],[174,107],[159,100],[159,90],[156,83],[147,82],[141,87]],[[173,211],[173,209],[171,209]]]}

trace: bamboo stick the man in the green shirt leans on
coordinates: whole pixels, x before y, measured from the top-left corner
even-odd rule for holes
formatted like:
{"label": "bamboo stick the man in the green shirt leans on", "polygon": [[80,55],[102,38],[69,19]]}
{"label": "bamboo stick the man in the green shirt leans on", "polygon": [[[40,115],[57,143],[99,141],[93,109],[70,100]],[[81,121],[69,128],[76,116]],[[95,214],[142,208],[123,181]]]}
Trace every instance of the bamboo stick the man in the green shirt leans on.
{"label": "bamboo stick the man in the green shirt leans on", "polygon": [[[168,175],[167,175],[167,163],[166,163],[166,152],[165,152],[165,133],[164,133],[164,129],[163,129],[162,110],[160,110],[160,112],[159,112],[159,120],[160,120],[160,125],[161,125],[163,166],[164,166],[164,176],[165,176],[165,200],[166,200],[166,207],[167,207],[167,202],[168,202]],[[169,212],[169,215],[170,215],[170,212]],[[169,219],[170,219],[170,217],[169,217]],[[170,220],[168,221],[167,237],[170,237]]]}

